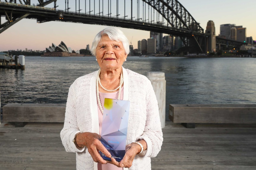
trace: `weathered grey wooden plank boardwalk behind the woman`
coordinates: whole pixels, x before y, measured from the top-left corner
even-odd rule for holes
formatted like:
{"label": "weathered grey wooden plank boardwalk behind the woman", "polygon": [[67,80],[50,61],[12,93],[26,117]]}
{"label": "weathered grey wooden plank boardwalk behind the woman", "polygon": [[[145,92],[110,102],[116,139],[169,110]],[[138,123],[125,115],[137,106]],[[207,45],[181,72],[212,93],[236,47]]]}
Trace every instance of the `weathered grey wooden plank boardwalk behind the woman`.
{"label": "weathered grey wooden plank boardwalk behind the woman", "polygon": [[[75,153],[61,144],[62,123],[0,124],[1,170],[75,170]],[[166,122],[162,150],[152,170],[255,170],[256,124]]]}

